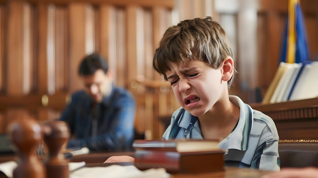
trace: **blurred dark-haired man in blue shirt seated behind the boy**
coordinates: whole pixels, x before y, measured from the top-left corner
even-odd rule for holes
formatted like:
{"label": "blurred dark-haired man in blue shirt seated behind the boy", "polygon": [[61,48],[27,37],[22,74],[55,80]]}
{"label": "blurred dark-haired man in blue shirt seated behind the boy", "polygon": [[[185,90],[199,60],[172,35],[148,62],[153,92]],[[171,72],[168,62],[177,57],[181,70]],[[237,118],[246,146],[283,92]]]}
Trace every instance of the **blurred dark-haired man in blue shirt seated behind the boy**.
{"label": "blurred dark-haired man in blue shirt seated behind the boy", "polygon": [[67,149],[132,150],[136,110],[133,95],[113,84],[114,75],[98,53],[84,57],[78,72],[84,90],[72,94],[59,118],[70,127]]}

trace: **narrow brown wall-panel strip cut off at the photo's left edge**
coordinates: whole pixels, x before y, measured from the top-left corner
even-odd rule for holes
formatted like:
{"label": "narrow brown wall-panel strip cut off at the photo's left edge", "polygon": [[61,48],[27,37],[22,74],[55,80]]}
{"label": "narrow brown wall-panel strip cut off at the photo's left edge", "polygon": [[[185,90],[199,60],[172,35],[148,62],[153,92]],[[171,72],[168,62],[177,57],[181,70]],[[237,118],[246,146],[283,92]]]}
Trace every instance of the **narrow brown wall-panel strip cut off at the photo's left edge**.
{"label": "narrow brown wall-panel strip cut off at the photo's left edge", "polygon": [[6,45],[5,45],[5,38],[6,38],[6,6],[1,5],[0,6],[0,93],[4,92],[6,84],[5,84],[5,79],[6,79],[6,60],[5,60],[5,52],[7,51]]}

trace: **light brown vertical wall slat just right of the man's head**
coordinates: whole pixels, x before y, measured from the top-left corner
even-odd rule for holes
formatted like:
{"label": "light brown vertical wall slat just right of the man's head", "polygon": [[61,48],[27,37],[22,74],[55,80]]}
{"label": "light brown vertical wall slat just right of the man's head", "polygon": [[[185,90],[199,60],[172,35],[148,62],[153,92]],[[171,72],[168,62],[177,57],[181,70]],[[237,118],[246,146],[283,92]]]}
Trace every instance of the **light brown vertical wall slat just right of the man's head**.
{"label": "light brown vertical wall slat just right of the man's head", "polygon": [[[110,45],[116,45],[116,84],[121,87],[127,87],[126,83],[126,72],[128,63],[126,62],[128,51],[126,51],[126,30],[130,30],[126,25],[126,11],[124,9],[118,8],[116,10],[116,33],[109,34],[115,35],[116,43]],[[135,34],[134,34],[135,35]],[[134,65],[133,65],[134,66]]]}

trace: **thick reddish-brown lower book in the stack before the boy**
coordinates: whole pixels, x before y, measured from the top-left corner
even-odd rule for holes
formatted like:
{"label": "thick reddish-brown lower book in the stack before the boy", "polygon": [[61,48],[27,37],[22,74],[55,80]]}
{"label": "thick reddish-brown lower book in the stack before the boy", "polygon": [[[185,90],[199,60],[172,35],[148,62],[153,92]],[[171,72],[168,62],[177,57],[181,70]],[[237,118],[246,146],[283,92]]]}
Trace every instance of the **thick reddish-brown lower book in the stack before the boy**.
{"label": "thick reddish-brown lower book in the stack before the boy", "polygon": [[170,152],[137,150],[135,166],[140,170],[165,168],[168,173],[203,173],[224,170],[224,152]]}

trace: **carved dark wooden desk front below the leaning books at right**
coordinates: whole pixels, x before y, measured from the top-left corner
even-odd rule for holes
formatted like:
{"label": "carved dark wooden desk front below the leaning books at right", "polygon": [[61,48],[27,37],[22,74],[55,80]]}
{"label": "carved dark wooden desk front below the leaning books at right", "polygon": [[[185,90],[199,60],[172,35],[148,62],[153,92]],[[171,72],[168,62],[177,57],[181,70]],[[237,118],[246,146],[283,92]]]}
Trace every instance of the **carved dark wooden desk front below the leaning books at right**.
{"label": "carved dark wooden desk front below the leaning books at right", "polygon": [[318,97],[250,106],[274,120],[281,140],[318,139]]}

